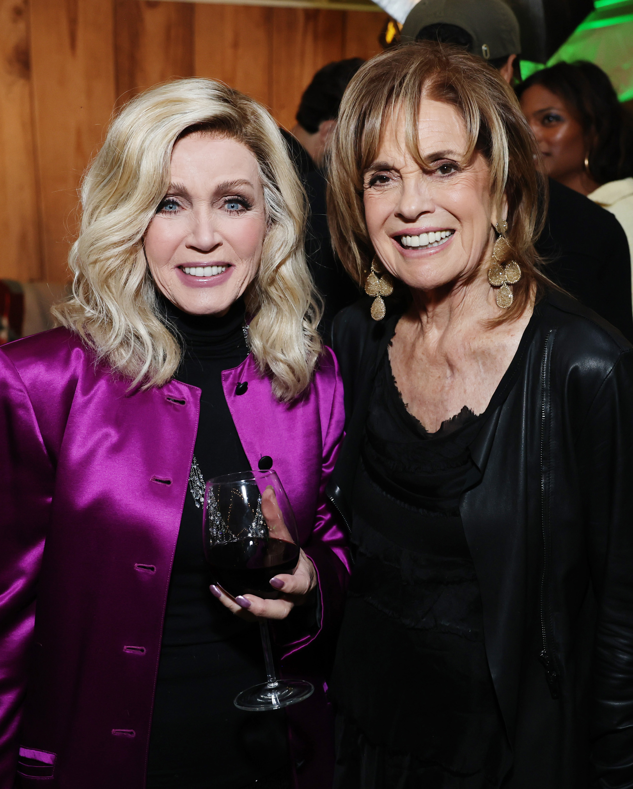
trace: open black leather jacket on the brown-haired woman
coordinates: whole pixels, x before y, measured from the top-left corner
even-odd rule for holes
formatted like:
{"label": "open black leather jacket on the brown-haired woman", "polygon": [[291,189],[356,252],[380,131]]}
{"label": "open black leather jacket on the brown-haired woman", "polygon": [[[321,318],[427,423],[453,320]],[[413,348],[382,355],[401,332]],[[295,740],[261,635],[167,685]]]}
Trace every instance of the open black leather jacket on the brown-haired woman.
{"label": "open black leather jacket on the brown-haired woman", "polygon": [[[402,312],[335,320],[347,436],[328,494],[350,496],[376,364]],[[549,294],[521,371],[471,452],[460,511],[513,750],[511,789],[633,787],[633,348]]]}

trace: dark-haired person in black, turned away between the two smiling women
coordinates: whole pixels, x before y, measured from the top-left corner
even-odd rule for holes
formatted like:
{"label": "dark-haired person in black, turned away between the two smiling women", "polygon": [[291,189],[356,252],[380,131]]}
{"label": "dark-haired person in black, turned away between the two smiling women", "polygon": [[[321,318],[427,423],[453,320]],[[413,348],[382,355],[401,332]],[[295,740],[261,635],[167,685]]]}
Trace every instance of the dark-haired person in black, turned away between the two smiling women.
{"label": "dark-haired person in black, turned away between the two smiling women", "polygon": [[316,289],[323,297],[324,312],[319,331],[326,338],[336,313],[360,296],[331,248],[325,170],[328,140],[336,126],[343,93],[363,62],[361,58],[348,58],[319,69],[303,92],[297,123],[290,129],[291,133],[282,129],[308,194],[305,255]]}

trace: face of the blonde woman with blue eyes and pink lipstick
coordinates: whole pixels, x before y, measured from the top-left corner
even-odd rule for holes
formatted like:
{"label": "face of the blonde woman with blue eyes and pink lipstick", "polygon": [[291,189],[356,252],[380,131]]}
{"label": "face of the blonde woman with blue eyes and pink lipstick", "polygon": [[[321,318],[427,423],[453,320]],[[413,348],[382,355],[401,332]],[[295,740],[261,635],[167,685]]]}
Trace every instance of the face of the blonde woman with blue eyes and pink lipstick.
{"label": "face of the blonde woman with blue eyes and pink lipstick", "polygon": [[237,140],[174,145],[170,187],[145,234],[159,290],[194,315],[223,315],[257,274],[266,235],[257,160]]}

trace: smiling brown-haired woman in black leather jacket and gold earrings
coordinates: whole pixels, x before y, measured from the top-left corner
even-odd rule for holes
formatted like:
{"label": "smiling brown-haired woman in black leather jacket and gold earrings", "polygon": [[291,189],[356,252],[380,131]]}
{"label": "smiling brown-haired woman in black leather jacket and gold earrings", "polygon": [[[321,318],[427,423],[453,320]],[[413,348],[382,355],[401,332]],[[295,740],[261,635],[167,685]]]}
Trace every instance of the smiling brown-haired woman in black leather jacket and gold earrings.
{"label": "smiling brown-haired woman in black leather jacket and gold earrings", "polygon": [[633,785],[633,353],[539,271],[508,85],[433,43],[361,67],[331,151],[354,569],[336,789]]}

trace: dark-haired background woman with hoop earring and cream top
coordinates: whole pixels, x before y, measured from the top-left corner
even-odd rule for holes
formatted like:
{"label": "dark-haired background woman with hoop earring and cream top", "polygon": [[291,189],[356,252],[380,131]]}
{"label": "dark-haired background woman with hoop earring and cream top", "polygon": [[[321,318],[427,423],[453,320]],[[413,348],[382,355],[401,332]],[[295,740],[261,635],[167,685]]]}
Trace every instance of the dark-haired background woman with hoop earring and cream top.
{"label": "dark-haired background woman with hoop earring and cream top", "polygon": [[616,216],[633,253],[633,118],[594,63],[556,63],[517,88],[550,178]]}

